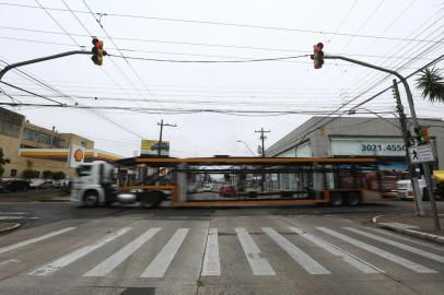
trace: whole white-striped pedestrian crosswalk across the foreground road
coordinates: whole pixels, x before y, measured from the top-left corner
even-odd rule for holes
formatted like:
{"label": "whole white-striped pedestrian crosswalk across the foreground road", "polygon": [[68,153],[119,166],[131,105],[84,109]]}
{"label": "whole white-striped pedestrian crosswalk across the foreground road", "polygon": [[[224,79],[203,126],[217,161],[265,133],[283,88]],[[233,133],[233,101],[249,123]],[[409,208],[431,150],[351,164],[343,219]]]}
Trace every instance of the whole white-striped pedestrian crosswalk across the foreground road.
{"label": "whole white-striped pedestrian crosswalk across the foreground road", "polygon": [[[0,258],[1,255],[8,252],[20,251],[23,247],[48,243],[51,238],[69,235],[74,229],[77,227],[66,227],[4,246],[0,248]],[[152,244],[156,244],[154,255],[143,261],[143,269],[138,272],[138,276],[140,279],[162,279],[172,270],[178,253],[190,247],[186,241],[187,238],[190,239],[194,236],[190,235],[192,231],[200,231],[199,234],[205,237],[202,247],[196,247],[196,251],[202,251],[196,256],[197,260],[201,260],[197,261],[201,264],[198,275],[224,275],[223,267],[224,262],[226,264],[227,261],[224,261],[226,252],[223,249],[226,251],[226,248],[220,247],[221,233],[219,228],[179,227],[174,228],[173,232],[170,229],[151,227],[139,232],[140,228],[129,226],[115,228],[70,252],[55,253],[52,260],[31,267],[24,275],[28,278],[57,275],[58,272],[75,266],[82,259],[85,263],[90,256],[96,255],[106,247],[112,247],[113,252],[106,251],[106,257],[94,262],[95,264],[89,266],[87,270],[81,268],[82,272],[79,273],[79,276],[83,278],[104,278],[118,269],[130,257],[140,255],[143,249],[145,250]],[[394,268],[404,268],[413,273],[434,274],[443,272],[444,268],[444,256],[439,255],[436,250],[433,251],[433,248],[430,248],[429,251],[425,247],[413,247],[411,245],[414,244],[408,245],[405,239],[398,241],[394,237],[384,236],[382,233],[376,234],[376,232],[365,227],[329,228],[319,226],[313,227],[308,232],[295,226],[287,228],[259,227],[259,231],[256,229],[254,233],[245,227],[234,227],[231,231],[234,235],[230,238],[233,239],[232,243],[236,244],[233,248],[242,249],[241,253],[244,257],[244,260],[239,259],[235,263],[246,261],[245,263],[254,276],[277,276],[280,274],[279,264],[272,261],[276,253],[270,253],[270,247],[280,249],[280,252],[287,256],[289,263],[293,263],[295,269],[307,275],[331,275],[335,273],[331,261],[325,261],[326,257],[329,258],[328,260],[336,259],[335,261],[339,261],[339,263],[361,274],[386,273],[387,270],[384,268],[387,264],[381,263],[381,259],[389,263],[389,271],[393,271]],[[159,239],[162,235],[166,236]],[[261,238],[258,239],[257,235],[260,235]],[[268,240],[266,246],[261,245],[264,239]],[[159,245],[159,240],[162,240],[162,245]],[[316,256],[316,253],[319,255]],[[374,259],[376,257],[379,260]],[[93,259],[92,261],[96,260]],[[233,263],[233,261],[229,263]]]}

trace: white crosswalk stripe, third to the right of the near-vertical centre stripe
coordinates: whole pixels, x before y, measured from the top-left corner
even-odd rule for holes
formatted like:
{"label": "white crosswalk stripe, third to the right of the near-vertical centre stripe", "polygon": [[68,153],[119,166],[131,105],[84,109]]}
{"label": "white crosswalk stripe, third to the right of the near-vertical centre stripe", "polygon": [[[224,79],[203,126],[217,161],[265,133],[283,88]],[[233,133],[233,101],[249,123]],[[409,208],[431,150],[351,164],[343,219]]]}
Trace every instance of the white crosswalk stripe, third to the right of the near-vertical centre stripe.
{"label": "white crosswalk stripe, third to the right of the near-vertical centre stripe", "polygon": [[349,253],[348,251],[332,245],[331,243],[329,243],[327,240],[322,239],[318,236],[305,233],[305,232],[299,229],[297,227],[289,227],[289,228],[290,228],[290,231],[296,233],[301,237],[304,237],[305,239],[316,244],[317,246],[319,246],[327,252],[330,252],[334,256],[341,257],[344,262],[347,262],[350,266],[352,266],[353,268],[362,271],[363,273],[384,273],[383,270],[379,270],[378,268],[370,264],[369,262],[353,256],[352,253]]}

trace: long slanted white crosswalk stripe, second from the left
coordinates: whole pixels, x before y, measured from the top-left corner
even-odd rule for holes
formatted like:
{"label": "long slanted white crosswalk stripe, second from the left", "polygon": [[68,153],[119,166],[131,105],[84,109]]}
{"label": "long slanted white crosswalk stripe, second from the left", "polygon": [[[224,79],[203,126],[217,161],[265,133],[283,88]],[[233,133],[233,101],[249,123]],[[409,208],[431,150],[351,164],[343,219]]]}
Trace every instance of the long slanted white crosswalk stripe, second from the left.
{"label": "long slanted white crosswalk stripe, second from the left", "polygon": [[49,262],[48,264],[43,266],[42,268],[38,268],[32,272],[30,272],[27,275],[39,275],[39,276],[45,276],[49,275],[56,271],[58,271],[61,268],[65,268],[66,266],[74,262],[75,260],[84,257],[85,255],[94,251],[95,249],[104,246],[105,244],[118,238],[119,236],[124,235],[128,231],[130,231],[132,227],[124,227],[115,233],[110,233],[102,237],[101,239],[96,240],[94,244],[84,246],[71,253],[68,253],[52,262]]}

